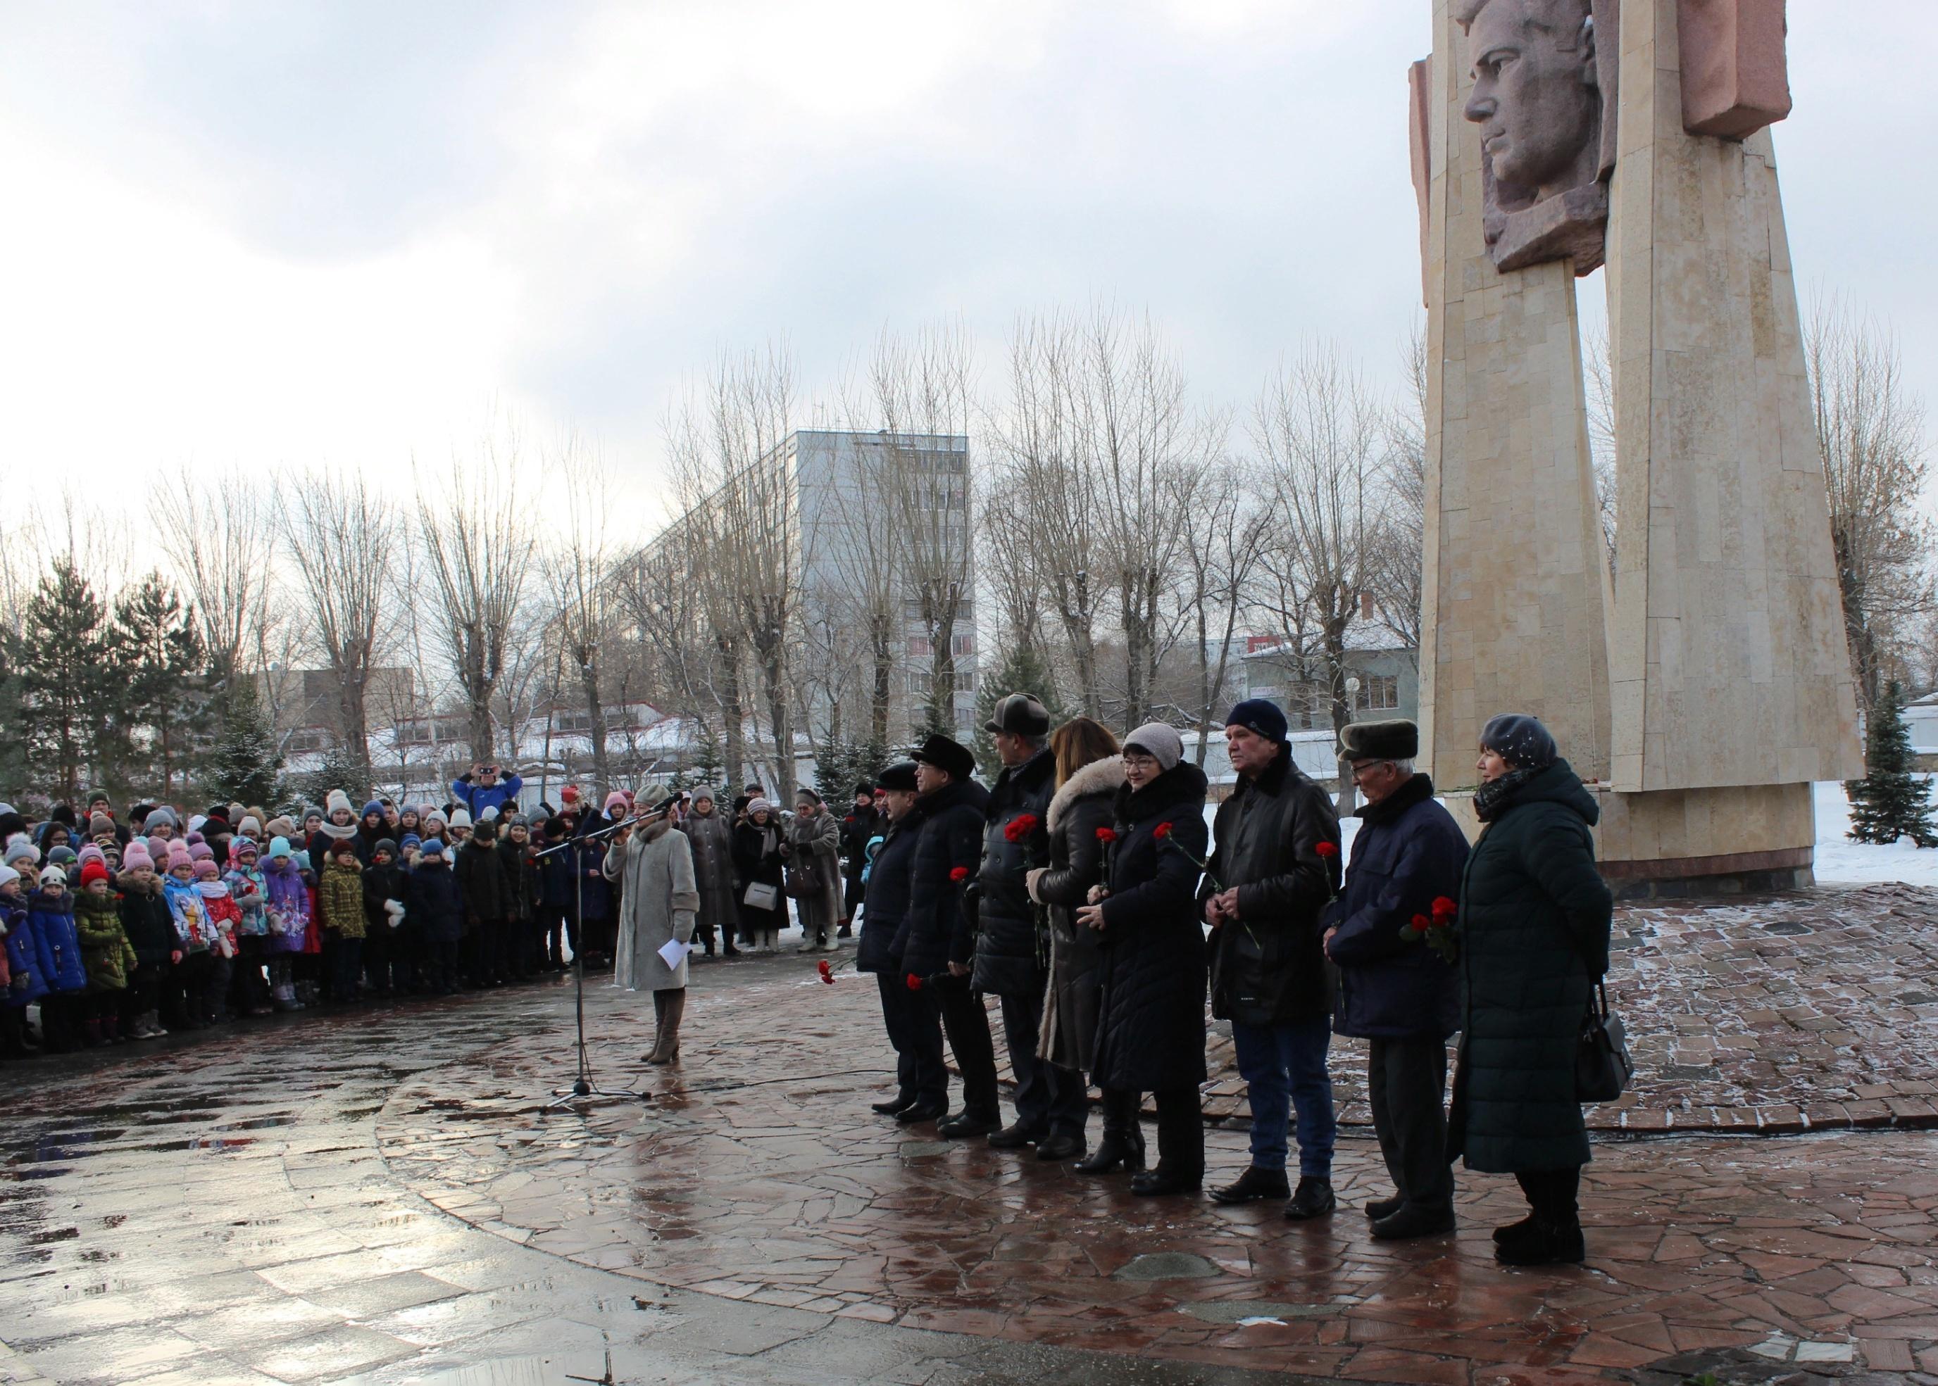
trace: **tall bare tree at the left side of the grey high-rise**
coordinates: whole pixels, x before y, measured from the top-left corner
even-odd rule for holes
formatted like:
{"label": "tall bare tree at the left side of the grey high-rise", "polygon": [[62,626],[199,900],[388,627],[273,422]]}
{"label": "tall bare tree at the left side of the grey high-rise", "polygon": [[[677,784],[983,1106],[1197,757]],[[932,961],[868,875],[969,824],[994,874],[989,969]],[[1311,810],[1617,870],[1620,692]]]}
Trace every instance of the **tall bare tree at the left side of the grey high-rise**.
{"label": "tall bare tree at the left side of the grey high-rise", "polygon": [[793,362],[785,349],[769,345],[723,359],[703,397],[688,401],[671,440],[682,523],[690,543],[711,556],[709,570],[731,607],[713,624],[721,663],[736,677],[746,642],[783,799],[795,795],[789,655],[802,591],[800,492],[787,454],[793,413]]}

